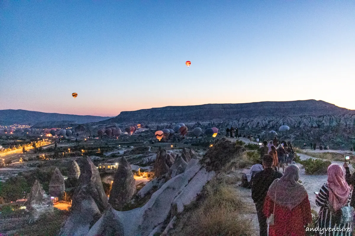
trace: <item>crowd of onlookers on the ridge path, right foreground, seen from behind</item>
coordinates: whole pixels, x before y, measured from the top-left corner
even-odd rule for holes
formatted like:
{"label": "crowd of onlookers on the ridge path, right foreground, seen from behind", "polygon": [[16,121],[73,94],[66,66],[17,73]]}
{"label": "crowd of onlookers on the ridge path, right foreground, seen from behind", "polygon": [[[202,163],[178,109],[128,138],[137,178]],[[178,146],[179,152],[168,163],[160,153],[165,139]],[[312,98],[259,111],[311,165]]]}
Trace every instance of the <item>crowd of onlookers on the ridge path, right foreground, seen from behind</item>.
{"label": "crowd of onlookers on the ridge path, right foreground, seen from behind", "polygon": [[[253,165],[242,178],[247,183],[245,186],[251,188],[260,236],[305,236],[312,222],[311,206],[307,191],[299,182],[299,167],[293,161],[292,144],[277,140],[263,142],[260,152],[262,165]],[[340,165],[331,164],[327,183],[315,192],[320,211],[316,226],[307,231],[317,236],[353,235],[355,198],[351,198],[351,193],[355,173],[350,174],[346,163],[344,168],[345,177]]]}

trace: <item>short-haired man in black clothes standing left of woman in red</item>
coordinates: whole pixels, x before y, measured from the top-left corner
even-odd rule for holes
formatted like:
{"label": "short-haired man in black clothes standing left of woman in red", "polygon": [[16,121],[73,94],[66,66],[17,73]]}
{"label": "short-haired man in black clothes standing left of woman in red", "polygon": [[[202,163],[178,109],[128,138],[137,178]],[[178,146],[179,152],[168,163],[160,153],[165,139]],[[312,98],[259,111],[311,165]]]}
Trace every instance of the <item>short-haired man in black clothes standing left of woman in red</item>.
{"label": "short-haired man in black clothes standing left of woman in red", "polygon": [[266,217],[263,213],[264,200],[269,190],[269,186],[275,179],[281,178],[282,174],[275,171],[273,166],[273,157],[271,155],[263,156],[264,170],[255,174],[251,187],[251,198],[253,199],[258,215],[260,236],[267,236]]}

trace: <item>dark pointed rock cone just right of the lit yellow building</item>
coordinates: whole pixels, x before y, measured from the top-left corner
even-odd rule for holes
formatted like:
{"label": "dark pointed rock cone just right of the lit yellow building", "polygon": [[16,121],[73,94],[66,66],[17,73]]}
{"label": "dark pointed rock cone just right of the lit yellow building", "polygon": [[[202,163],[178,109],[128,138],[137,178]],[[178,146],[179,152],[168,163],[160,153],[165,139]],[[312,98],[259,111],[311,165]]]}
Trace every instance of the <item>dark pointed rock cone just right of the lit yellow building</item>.
{"label": "dark pointed rock cone just right of the lit yellow building", "polygon": [[131,166],[126,158],[122,157],[113,180],[109,203],[115,210],[121,210],[135,193],[136,180],[133,178]]}

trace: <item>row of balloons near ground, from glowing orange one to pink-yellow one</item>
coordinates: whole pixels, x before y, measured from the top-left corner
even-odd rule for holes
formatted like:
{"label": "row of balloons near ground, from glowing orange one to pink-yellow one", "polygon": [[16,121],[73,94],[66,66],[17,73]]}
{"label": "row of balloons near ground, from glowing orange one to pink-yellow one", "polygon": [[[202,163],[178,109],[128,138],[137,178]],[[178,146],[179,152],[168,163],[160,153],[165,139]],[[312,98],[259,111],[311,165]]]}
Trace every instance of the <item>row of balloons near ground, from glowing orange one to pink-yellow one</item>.
{"label": "row of balloons near ground, from glowing orange one to pink-yellow one", "polygon": [[[188,128],[185,126],[184,123],[179,123],[174,126],[174,129],[162,129],[157,132],[155,132],[155,137],[160,141],[162,139],[168,139],[173,136],[175,132],[179,132],[182,136],[185,136],[188,133]],[[189,133],[193,134],[193,136],[200,136],[202,134],[202,129],[200,127],[194,128],[192,131],[189,131]],[[207,137],[216,137],[218,133],[218,128],[213,127],[206,129],[205,134]]]}

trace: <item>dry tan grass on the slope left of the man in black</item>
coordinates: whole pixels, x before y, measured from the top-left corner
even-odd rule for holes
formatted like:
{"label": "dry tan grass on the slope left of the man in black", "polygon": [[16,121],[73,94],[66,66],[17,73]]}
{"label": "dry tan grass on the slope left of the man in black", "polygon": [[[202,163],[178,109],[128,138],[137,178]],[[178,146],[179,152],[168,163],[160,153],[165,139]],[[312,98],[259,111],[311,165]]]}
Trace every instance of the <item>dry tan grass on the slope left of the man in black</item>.
{"label": "dry tan grass on the slope left of the man in black", "polygon": [[215,177],[199,199],[177,215],[171,236],[253,235],[251,221],[243,217],[246,203],[224,178]]}

